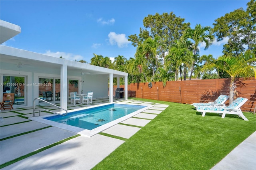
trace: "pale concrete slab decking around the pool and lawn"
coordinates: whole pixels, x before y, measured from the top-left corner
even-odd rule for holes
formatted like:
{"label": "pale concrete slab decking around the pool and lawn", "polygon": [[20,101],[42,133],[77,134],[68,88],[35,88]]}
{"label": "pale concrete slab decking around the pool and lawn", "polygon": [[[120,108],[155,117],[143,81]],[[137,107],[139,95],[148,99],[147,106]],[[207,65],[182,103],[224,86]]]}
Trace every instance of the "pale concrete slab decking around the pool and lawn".
{"label": "pale concrete slab decking around the pool and lawn", "polygon": [[[100,101],[102,102],[102,101]],[[117,101],[118,102],[118,101]],[[126,100],[119,101],[118,103],[133,103],[144,105],[154,105],[153,109],[148,109],[122,121],[122,124],[114,125],[102,132],[120,136],[122,138],[130,138],[138,130],[147,125],[152,119],[160,114],[164,108],[168,105],[162,105],[157,103]],[[81,108],[83,106],[73,106],[69,108]],[[53,108],[54,109],[54,108]],[[16,113],[14,114],[15,111]],[[76,133],[68,130],[63,130],[56,127],[49,127],[43,123],[38,123],[25,119],[25,117],[32,117],[31,108],[14,109],[12,111],[4,111],[0,113],[1,117],[4,117],[4,121],[1,123],[0,138],[4,139],[0,141],[0,164],[8,162],[22,155],[30,153],[34,150],[38,150],[48,144],[53,144],[56,141],[63,140],[69,136],[74,136]],[[22,113],[22,114],[18,114]],[[10,115],[12,117],[9,117]],[[18,117],[22,115],[22,117]],[[41,115],[48,115],[50,113],[42,112]],[[18,118],[17,118],[18,117]],[[22,118],[22,119],[20,119]],[[19,124],[13,124],[19,123]],[[13,124],[13,125],[12,125]],[[138,127],[132,127],[129,125],[135,125]],[[32,131],[36,130],[36,131]],[[20,136],[7,138],[21,134],[22,132],[29,132]],[[111,138],[101,134],[96,134],[90,138],[86,136],[78,136],[72,138],[66,142],[48,148],[42,152],[34,154],[28,158],[20,160],[14,164],[1,168],[1,170],[89,170],[118,148],[124,140]],[[221,160],[213,170],[234,170],[234,169],[256,169],[256,132],[249,136],[244,142],[238,145],[230,154],[228,154],[223,160]]]}

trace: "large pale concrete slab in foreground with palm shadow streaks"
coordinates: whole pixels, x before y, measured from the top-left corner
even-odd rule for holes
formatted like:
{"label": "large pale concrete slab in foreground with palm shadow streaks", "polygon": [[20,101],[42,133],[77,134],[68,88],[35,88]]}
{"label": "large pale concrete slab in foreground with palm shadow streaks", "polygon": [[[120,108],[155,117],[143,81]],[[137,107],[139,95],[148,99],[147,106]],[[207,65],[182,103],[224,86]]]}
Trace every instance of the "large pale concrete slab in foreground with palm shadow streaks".
{"label": "large pale concrete slab in foreground with palm shadow streaks", "polygon": [[96,134],[78,136],[1,170],[89,170],[113,152],[123,140]]}

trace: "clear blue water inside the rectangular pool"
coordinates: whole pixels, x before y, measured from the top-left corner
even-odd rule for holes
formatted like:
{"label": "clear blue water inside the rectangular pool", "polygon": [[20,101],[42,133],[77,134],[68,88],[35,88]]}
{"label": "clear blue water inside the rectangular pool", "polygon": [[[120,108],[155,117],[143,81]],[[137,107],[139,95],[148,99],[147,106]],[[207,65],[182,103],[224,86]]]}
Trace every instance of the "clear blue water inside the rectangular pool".
{"label": "clear blue water inside the rectangular pool", "polygon": [[50,121],[92,130],[146,106],[110,104],[68,113],[66,116],[45,117]]}

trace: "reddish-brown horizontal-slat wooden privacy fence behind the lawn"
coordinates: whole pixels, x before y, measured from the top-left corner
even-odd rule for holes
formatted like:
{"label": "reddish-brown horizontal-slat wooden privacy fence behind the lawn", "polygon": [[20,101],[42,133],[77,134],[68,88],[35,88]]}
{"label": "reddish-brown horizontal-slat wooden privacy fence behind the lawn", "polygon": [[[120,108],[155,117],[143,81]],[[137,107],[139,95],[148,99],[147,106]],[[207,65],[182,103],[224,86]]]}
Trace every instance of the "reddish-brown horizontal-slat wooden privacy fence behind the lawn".
{"label": "reddish-brown horizontal-slat wooden privacy fence behind the lawn", "polygon": [[[256,79],[240,78],[235,83],[238,94],[235,97],[248,99],[241,109],[253,112],[256,107]],[[207,103],[214,101],[219,95],[229,95],[229,85],[230,79],[168,81],[166,87],[163,87],[162,82],[152,82],[152,88],[148,87],[148,83],[132,83],[128,85],[128,97],[187,104]],[[114,86],[114,96],[116,88]]]}

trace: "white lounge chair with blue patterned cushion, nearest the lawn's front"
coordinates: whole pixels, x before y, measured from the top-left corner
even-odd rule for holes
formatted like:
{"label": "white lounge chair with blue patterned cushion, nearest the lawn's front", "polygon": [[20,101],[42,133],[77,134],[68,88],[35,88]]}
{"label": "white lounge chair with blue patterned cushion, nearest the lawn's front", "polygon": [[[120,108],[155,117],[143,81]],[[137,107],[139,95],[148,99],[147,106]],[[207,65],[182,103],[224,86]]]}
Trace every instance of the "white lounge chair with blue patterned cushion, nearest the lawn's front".
{"label": "white lounge chair with blue patterned cushion, nearest the lawn's front", "polygon": [[205,116],[205,113],[219,113],[222,114],[221,118],[225,118],[226,114],[232,114],[232,115],[238,115],[245,121],[248,121],[248,119],[244,116],[242,113],[240,107],[244,105],[244,103],[248,99],[238,97],[236,100],[233,101],[228,107],[223,106],[199,106],[196,108],[196,111],[202,112],[202,117]]}

